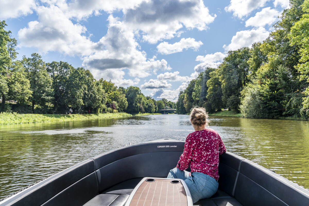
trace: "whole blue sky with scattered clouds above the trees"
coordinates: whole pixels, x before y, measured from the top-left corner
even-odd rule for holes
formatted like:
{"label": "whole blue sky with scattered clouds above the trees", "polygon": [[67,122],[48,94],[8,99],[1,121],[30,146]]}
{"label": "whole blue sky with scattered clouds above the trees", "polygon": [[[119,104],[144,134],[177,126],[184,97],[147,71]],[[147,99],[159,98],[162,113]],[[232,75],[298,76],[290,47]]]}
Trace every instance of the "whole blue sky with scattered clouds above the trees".
{"label": "whole blue sky with scattered clouds above the trees", "polygon": [[0,0],[18,58],[89,69],[156,100],[179,92],[229,50],[265,40],[289,0]]}

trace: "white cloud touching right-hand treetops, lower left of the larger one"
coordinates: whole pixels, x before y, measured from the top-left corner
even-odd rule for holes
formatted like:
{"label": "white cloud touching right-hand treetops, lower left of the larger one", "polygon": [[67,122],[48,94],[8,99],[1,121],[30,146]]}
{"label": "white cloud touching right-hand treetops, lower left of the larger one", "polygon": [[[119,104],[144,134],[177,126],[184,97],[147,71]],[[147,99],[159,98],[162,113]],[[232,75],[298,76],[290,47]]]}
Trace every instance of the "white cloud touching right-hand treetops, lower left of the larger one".
{"label": "white cloud touching right-hand treetops, lower left of the larger one", "polygon": [[207,67],[218,68],[224,57],[226,57],[226,54],[221,52],[206,54],[205,56],[197,56],[195,61],[200,61],[201,63],[194,67],[194,71],[200,73],[205,71]]}

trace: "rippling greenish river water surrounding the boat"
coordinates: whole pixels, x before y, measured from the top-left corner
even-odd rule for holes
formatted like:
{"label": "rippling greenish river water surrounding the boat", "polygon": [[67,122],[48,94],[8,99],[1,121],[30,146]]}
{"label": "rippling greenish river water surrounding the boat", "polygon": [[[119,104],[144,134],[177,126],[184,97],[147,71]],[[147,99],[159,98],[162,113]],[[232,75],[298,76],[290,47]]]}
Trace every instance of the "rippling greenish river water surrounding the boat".
{"label": "rippling greenish river water surrounding the boat", "polygon": [[[309,188],[309,122],[210,117],[227,151]],[[125,144],[185,140],[187,115],[133,116],[0,126],[0,199]],[[176,164],[176,163],[175,163]]]}

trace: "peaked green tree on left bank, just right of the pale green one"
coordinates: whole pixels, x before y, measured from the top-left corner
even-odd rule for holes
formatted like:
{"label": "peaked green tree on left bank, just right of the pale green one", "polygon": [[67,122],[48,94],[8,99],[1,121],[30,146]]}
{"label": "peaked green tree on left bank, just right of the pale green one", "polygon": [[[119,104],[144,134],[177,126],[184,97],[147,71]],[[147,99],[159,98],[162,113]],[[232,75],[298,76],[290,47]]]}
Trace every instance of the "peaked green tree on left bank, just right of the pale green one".
{"label": "peaked green tree on left bank, just right of the pale green one", "polygon": [[46,103],[52,100],[52,79],[46,71],[45,62],[37,53],[32,53],[31,58],[23,56],[23,67],[25,69],[26,77],[30,82],[30,89],[32,91],[32,112],[34,113],[34,106],[45,106]]}

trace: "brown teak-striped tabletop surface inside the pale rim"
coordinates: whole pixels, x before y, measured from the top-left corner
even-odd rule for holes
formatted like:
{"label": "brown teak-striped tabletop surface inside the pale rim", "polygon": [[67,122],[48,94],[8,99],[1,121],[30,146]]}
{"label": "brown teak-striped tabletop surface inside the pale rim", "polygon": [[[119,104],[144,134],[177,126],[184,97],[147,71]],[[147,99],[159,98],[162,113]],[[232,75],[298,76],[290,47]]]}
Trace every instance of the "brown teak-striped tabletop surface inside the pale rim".
{"label": "brown teak-striped tabletop surface inside the pale rim", "polygon": [[[153,178],[155,179],[155,178]],[[185,206],[187,195],[182,183],[173,184],[170,179],[144,181],[135,192],[130,206]]]}

